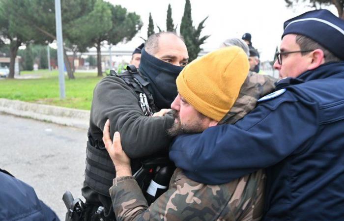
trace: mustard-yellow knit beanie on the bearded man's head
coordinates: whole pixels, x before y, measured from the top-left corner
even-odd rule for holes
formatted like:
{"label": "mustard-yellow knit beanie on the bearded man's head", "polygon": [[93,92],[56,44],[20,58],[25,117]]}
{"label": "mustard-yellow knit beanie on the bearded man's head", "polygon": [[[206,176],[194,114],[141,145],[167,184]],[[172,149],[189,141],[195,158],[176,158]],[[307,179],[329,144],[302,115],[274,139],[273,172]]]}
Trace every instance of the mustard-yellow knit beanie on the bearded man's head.
{"label": "mustard-yellow knit beanie on the bearded man's head", "polygon": [[220,121],[238,97],[249,68],[241,48],[221,48],[184,67],[176,80],[178,93],[197,111]]}

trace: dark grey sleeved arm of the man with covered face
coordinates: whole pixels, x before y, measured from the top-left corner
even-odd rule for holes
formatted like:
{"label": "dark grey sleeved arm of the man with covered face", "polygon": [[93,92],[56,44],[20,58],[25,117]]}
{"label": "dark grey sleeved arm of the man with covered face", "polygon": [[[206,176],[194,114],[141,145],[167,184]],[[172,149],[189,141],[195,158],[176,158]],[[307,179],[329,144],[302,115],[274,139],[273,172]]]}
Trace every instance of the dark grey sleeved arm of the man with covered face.
{"label": "dark grey sleeved arm of the man with covered face", "polygon": [[95,139],[101,140],[107,119],[110,120],[111,137],[115,131],[125,134],[122,146],[132,159],[152,155],[170,144],[166,130],[173,124],[172,115],[144,116],[135,91],[120,79],[102,80],[94,90],[90,129]]}

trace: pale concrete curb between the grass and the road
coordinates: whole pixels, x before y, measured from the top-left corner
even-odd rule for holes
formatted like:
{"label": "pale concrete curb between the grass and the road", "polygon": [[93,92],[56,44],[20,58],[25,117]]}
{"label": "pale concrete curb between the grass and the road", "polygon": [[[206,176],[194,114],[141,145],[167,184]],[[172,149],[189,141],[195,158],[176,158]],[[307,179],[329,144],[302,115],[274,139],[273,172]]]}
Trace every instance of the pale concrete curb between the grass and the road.
{"label": "pale concrete curb between the grass and the road", "polygon": [[0,98],[0,112],[88,129],[90,111]]}

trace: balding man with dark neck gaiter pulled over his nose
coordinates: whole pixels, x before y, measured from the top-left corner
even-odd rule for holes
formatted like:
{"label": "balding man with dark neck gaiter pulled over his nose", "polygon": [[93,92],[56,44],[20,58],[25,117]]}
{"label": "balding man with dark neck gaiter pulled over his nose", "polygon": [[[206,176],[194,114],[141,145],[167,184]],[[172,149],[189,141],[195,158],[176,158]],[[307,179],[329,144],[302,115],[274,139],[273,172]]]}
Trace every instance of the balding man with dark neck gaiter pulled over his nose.
{"label": "balding man with dark neck gaiter pulled over his nose", "polygon": [[[172,32],[149,36],[142,50],[139,74],[148,82],[153,96],[153,112],[168,109],[177,95],[175,80],[188,62],[183,40]],[[125,73],[122,73],[122,75]],[[163,117],[145,116],[140,96],[118,76],[108,76],[95,87],[91,107],[86,150],[85,182],[82,194],[86,198],[85,220],[90,220],[99,206],[104,206],[105,220],[115,220],[109,189],[115,178],[113,163],[103,143],[103,128],[110,120],[111,134],[119,131],[125,153],[132,159],[135,173],[142,159],[168,150],[171,138],[172,114]]]}

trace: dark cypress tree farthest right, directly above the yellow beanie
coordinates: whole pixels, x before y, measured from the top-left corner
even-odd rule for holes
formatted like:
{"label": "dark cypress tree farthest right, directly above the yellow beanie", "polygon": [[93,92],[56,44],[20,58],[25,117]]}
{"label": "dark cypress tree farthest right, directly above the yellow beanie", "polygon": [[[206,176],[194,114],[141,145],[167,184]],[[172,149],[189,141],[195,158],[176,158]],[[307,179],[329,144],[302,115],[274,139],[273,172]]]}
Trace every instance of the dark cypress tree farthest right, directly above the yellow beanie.
{"label": "dark cypress tree farthest right, directly above the yellow beanie", "polygon": [[185,45],[189,53],[189,61],[197,58],[201,52],[201,45],[209,37],[209,35],[201,37],[201,31],[204,28],[203,24],[207,18],[203,19],[196,29],[192,25],[190,0],[185,0],[184,14],[180,24],[180,34],[184,37]]}

